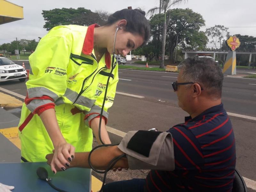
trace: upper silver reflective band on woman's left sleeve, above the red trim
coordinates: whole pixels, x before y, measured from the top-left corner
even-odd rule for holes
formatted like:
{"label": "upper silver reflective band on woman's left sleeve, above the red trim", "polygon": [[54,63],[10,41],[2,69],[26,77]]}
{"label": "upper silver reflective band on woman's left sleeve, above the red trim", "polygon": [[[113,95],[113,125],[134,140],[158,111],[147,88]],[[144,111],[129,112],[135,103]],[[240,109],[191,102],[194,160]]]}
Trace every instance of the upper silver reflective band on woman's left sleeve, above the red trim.
{"label": "upper silver reflective band on woman's left sleeve, above the red trim", "polygon": [[56,101],[59,98],[56,93],[50,91],[45,87],[33,87],[28,89],[29,98],[42,97],[44,95],[51,97],[54,101]]}

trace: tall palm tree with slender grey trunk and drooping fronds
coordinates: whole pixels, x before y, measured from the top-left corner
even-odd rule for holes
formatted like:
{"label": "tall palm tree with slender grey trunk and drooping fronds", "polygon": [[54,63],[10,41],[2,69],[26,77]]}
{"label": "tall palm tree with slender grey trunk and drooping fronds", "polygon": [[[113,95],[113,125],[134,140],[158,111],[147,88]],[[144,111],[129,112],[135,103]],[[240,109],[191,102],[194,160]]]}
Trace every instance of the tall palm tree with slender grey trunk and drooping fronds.
{"label": "tall palm tree with slender grey trunk and drooping fronds", "polygon": [[[162,11],[164,12],[164,23],[163,23],[163,32],[162,32],[162,53],[161,53],[160,68],[164,68],[165,40],[166,40],[166,30],[167,30],[166,13],[172,5],[180,4],[183,1],[186,2],[188,0],[159,0],[160,6],[154,7],[148,11],[148,14],[150,14],[150,15],[156,13],[158,10],[159,10],[159,13],[161,13]],[[167,22],[169,23],[169,17],[167,19]]]}

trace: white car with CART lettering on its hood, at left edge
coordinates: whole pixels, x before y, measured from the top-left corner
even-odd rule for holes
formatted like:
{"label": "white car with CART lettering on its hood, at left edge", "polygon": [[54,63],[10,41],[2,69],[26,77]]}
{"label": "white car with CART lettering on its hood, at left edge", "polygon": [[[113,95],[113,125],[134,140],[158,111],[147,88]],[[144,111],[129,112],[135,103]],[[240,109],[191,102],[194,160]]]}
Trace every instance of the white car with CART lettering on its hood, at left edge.
{"label": "white car with CART lettering on its hood, at left edge", "polygon": [[27,71],[25,68],[5,57],[0,57],[0,82],[13,79],[19,79],[20,82],[24,82],[26,77]]}

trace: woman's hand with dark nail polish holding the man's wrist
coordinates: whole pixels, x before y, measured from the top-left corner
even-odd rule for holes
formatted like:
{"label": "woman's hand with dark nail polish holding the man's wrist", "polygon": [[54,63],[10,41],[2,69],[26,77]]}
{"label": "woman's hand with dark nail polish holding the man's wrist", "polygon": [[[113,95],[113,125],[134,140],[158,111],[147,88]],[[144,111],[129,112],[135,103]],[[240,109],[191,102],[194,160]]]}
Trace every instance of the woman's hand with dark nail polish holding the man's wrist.
{"label": "woman's hand with dark nail polish holding the man's wrist", "polygon": [[[65,171],[70,166],[70,162],[75,158],[75,147],[67,142],[62,142],[55,147],[53,153],[50,165],[52,172],[55,174],[60,170]],[[49,156],[47,160],[49,164]]]}

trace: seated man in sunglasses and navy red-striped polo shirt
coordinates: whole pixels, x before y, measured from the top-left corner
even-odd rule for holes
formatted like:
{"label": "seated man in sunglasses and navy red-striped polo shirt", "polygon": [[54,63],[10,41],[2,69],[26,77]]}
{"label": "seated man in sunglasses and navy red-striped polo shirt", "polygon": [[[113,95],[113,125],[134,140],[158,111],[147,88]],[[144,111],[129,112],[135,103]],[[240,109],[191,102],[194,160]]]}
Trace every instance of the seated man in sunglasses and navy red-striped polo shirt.
{"label": "seated man in sunglasses and navy red-striped polo shirt", "polygon": [[[190,116],[185,117],[185,123],[177,124],[167,131],[172,135],[166,137],[171,138],[172,147],[161,155],[161,158],[172,159],[170,156],[174,154],[173,161],[168,161],[175,166],[172,171],[160,167],[157,170],[156,167],[146,179],[109,183],[104,186],[104,192],[232,190],[236,148],[232,124],[221,103],[221,69],[211,58],[188,58],[178,68],[180,73],[172,86],[180,108]],[[92,165],[105,169],[111,159],[124,154],[120,145],[93,151]],[[50,164],[52,154],[46,158]],[[114,167],[128,168],[131,164],[128,156],[128,159],[119,160]],[[88,153],[76,153],[70,166],[89,168]],[[137,167],[140,169],[139,163]]]}

